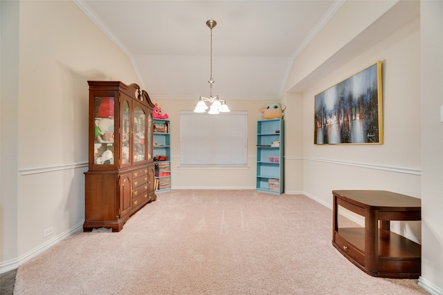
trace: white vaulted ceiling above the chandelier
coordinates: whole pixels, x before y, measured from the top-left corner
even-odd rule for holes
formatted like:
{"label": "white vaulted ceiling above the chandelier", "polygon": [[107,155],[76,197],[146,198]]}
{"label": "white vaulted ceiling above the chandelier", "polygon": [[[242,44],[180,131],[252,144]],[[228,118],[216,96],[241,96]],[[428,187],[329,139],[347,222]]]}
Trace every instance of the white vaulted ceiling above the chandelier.
{"label": "white vaulted ceiling above the chandelier", "polygon": [[293,59],[340,8],[338,0],[75,0],[126,53],[151,97],[278,98]]}

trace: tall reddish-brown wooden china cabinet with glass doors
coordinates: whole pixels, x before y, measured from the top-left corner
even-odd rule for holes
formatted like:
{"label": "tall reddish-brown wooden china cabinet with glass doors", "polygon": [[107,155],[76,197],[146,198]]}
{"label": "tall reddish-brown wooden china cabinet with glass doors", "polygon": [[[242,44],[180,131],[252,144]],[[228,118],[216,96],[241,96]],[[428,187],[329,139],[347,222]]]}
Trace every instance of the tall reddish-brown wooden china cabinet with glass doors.
{"label": "tall reddish-brown wooden china cabinet with glass doors", "polygon": [[120,231],[132,214],[156,200],[152,104],[137,84],[88,81],[89,169],[83,231]]}

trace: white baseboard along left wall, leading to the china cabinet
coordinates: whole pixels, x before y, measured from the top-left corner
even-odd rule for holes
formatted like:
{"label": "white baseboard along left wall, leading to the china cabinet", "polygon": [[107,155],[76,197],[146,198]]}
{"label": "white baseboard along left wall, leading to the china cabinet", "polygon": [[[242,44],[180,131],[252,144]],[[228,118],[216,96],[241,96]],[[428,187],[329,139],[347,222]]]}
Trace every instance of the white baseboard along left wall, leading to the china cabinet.
{"label": "white baseboard along left wall, leading to the china cabinet", "polygon": [[82,227],[83,227],[83,222],[79,223],[78,225],[75,225],[71,229],[62,232],[61,234],[58,234],[54,238],[51,238],[51,240],[44,242],[42,245],[39,245],[39,247],[26,252],[25,254],[19,256],[18,258],[0,263],[0,274],[3,274],[4,272],[9,272],[12,269],[17,269],[19,265],[22,265],[26,263],[26,261],[38,256],[39,254],[42,254],[47,249],[53,247],[53,245],[56,245],[58,242],[64,240],[65,238],[71,236],[75,232],[82,229]]}

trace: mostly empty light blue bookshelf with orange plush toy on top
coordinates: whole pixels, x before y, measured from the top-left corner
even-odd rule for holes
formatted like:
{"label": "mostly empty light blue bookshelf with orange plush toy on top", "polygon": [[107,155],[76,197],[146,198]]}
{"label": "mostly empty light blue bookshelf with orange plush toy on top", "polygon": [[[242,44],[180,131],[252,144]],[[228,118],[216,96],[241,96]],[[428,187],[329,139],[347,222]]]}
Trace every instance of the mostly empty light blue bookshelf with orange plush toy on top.
{"label": "mostly empty light blue bookshelf with orange plush toy on top", "polygon": [[283,135],[282,119],[257,122],[257,191],[283,193]]}

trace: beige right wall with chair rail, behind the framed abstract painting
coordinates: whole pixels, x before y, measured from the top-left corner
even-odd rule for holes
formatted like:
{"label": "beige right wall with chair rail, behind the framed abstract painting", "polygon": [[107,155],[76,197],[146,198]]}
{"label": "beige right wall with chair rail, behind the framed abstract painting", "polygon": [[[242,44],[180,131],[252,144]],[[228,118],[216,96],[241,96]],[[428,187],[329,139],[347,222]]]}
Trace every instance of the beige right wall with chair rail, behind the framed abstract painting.
{"label": "beige right wall with chair rail, behind the framed abstract painting", "polygon": [[[332,208],[334,189],[381,189],[396,191],[417,198],[421,197],[420,156],[420,27],[418,13],[410,13],[408,21],[388,23],[391,27],[383,27],[383,34],[376,34],[377,24],[383,23],[386,15],[392,10],[401,11],[399,6],[381,7],[373,15],[374,23],[362,27],[360,35],[366,35],[365,43],[370,46],[365,50],[352,50],[361,46],[359,36],[342,37],[340,33],[325,34],[324,32],[350,32],[341,30],[344,23],[351,23],[354,15],[349,15],[350,6],[345,3],[341,10],[327,23],[312,46],[329,48],[328,44],[337,46],[336,39],[343,39],[344,44],[338,51],[346,51],[347,55],[337,53],[334,48],[329,59],[318,64],[317,55],[300,54],[294,61],[293,72],[298,67],[310,69],[307,76],[316,75],[316,81],[307,84],[305,78],[298,78],[291,73],[287,88],[296,89],[302,96],[303,116],[302,133],[302,191],[305,195]],[[408,4],[410,5],[410,4]],[[401,6],[401,7],[400,7]],[[408,6],[417,10],[419,7]],[[344,13],[346,12],[346,13]],[[373,11],[372,11],[373,12]],[[337,19],[338,18],[338,19]],[[386,35],[391,31],[390,35]],[[351,48],[351,49],[350,49]],[[312,48],[307,48],[310,53]],[[325,49],[327,51],[327,49]],[[325,55],[325,53],[323,53]],[[348,57],[353,57],[352,59]],[[299,59],[302,59],[300,61]],[[383,133],[381,145],[314,145],[314,96],[325,89],[347,79],[354,73],[367,68],[376,61],[382,61],[383,84]],[[334,66],[331,66],[334,65]],[[413,137],[416,140],[413,140]],[[291,162],[287,162],[287,166]],[[298,166],[301,164],[298,163]],[[289,167],[287,167],[289,169]],[[287,178],[289,175],[286,175]],[[356,218],[356,216],[351,216]],[[356,218],[358,220],[358,218]],[[422,242],[419,222],[392,222],[392,229],[399,234],[417,242]]]}

